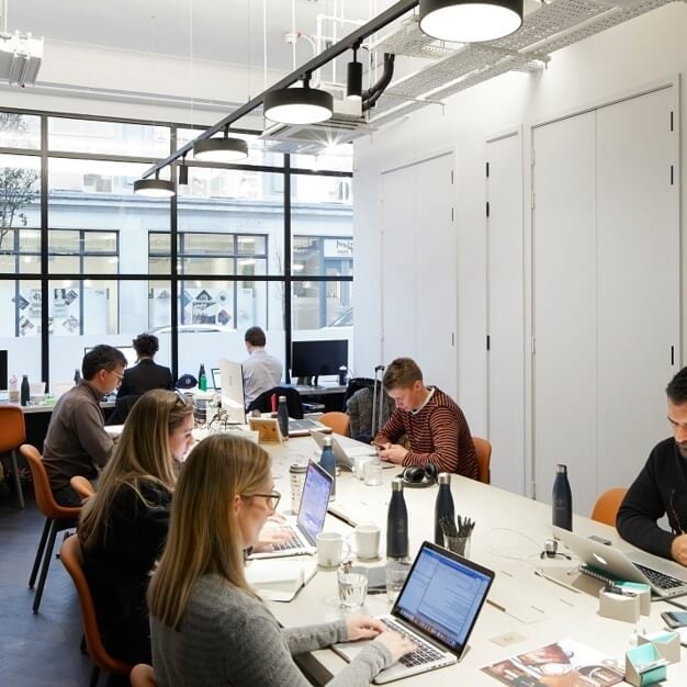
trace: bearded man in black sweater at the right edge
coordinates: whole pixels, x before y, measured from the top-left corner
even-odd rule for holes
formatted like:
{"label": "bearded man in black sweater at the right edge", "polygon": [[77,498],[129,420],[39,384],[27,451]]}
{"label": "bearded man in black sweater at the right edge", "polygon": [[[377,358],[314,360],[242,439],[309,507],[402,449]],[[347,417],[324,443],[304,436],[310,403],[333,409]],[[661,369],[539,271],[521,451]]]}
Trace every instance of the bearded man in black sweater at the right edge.
{"label": "bearded man in black sweater at the right edge", "polygon": [[[665,391],[673,438],[654,447],[618,510],[616,527],[631,544],[687,565],[687,368]],[[657,523],[664,515],[669,532]]]}

